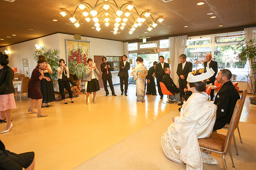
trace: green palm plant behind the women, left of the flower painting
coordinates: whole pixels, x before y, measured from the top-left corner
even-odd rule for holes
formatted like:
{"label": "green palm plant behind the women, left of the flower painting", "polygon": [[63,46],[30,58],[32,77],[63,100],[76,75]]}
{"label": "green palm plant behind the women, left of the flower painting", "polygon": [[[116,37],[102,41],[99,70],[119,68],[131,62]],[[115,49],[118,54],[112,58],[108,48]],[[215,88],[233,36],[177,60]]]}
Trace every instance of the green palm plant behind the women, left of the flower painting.
{"label": "green palm plant behind the women, left of the flower painting", "polygon": [[38,60],[38,57],[40,55],[43,55],[45,57],[46,62],[51,66],[53,73],[51,74],[51,78],[53,80],[53,87],[57,87],[57,79],[58,79],[58,72],[57,68],[59,67],[59,55],[60,50],[54,49],[54,50],[47,50],[46,46],[41,47],[37,51],[34,51],[33,58],[35,61]]}

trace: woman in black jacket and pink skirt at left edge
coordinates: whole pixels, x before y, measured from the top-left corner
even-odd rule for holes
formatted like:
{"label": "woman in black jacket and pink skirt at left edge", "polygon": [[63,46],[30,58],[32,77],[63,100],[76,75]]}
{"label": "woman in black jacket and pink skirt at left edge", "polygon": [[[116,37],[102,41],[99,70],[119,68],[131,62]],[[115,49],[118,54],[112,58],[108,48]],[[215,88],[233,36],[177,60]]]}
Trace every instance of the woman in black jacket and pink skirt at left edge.
{"label": "woman in black jacket and pink skirt at left edge", "polygon": [[14,87],[13,78],[14,72],[11,67],[7,64],[9,63],[8,55],[0,52],[0,123],[5,123],[5,129],[1,132],[6,133],[12,129],[12,111],[11,109],[16,109],[16,104],[14,100]]}

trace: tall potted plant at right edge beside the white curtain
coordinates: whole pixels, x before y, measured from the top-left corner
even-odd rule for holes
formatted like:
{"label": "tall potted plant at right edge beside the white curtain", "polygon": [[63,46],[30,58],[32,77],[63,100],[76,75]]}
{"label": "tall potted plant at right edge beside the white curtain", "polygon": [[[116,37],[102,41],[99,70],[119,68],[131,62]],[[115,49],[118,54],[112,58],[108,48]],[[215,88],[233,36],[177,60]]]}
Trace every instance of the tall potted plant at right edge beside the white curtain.
{"label": "tall potted plant at right edge beside the white curtain", "polygon": [[237,56],[239,62],[242,64],[249,61],[251,64],[245,78],[247,79],[248,87],[253,95],[253,97],[249,97],[250,104],[252,107],[256,107],[256,40],[250,40],[249,42],[245,42],[245,44],[240,42],[237,47],[240,48],[240,52]]}

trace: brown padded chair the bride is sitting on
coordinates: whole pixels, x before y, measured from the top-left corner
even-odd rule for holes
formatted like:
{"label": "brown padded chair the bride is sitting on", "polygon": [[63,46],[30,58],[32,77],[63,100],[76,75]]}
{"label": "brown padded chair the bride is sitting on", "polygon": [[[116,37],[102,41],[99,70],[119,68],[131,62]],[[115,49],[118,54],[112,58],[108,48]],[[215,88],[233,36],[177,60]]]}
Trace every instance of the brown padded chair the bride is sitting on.
{"label": "brown padded chair the bride is sitting on", "polygon": [[230,152],[230,157],[232,160],[232,165],[233,165],[232,167],[235,168],[231,149],[230,149],[230,143],[231,143],[232,134],[234,133],[236,124],[239,121],[238,117],[239,117],[239,111],[241,109],[241,106],[242,106],[242,100],[239,99],[234,108],[233,115],[230,121],[230,126],[228,128],[228,132],[226,136],[222,134],[212,133],[207,138],[198,139],[200,148],[208,151],[216,152],[219,154],[223,154],[223,163],[224,163],[225,170],[227,170],[225,155],[228,150]]}

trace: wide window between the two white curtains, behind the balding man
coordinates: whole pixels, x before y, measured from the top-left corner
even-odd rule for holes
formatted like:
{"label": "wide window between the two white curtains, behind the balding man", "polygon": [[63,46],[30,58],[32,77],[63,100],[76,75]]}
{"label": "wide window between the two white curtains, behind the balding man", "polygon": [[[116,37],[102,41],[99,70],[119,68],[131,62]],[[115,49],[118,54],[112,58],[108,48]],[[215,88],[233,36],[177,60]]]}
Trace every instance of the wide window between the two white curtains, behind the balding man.
{"label": "wide window between the two white curtains, behind the balding man", "polygon": [[[215,43],[211,43],[211,40],[215,40]],[[218,63],[218,71],[227,68],[231,71],[234,80],[247,81],[243,78],[248,73],[249,64],[247,62],[241,65],[236,58],[239,52],[236,45],[243,40],[243,31],[189,37],[185,50],[187,61],[193,63],[193,70],[203,68],[206,55],[210,53],[212,60]]]}

